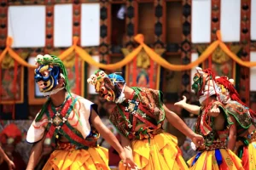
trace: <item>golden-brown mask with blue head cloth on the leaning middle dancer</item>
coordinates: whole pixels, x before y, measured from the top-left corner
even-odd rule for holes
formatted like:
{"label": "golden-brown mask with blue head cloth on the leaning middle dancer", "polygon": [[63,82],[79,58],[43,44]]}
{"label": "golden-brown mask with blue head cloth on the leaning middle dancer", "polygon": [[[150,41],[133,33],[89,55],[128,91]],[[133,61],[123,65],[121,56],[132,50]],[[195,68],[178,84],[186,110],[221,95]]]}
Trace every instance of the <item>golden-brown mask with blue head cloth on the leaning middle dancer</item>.
{"label": "golden-brown mask with blue head cloth on the leaning middle dancer", "polygon": [[[125,79],[116,73],[107,75],[104,71],[95,71],[87,79],[87,82],[95,86],[96,93],[102,98],[115,103],[122,103],[125,100]],[[119,83],[123,83],[123,88],[120,88]]]}

